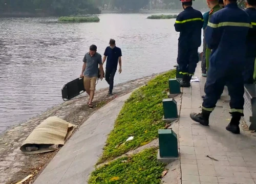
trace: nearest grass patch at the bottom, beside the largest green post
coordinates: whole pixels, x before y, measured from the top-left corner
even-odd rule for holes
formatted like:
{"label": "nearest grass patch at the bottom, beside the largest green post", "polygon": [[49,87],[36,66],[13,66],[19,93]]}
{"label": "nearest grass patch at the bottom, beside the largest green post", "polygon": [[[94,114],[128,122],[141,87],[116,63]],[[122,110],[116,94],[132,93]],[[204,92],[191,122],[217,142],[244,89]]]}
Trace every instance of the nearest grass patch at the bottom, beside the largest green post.
{"label": "nearest grass patch at the bottom, beside the largest green post", "polygon": [[156,149],[122,157],[92,172],[89,184],[159,184],[165,164],[157,162]]}

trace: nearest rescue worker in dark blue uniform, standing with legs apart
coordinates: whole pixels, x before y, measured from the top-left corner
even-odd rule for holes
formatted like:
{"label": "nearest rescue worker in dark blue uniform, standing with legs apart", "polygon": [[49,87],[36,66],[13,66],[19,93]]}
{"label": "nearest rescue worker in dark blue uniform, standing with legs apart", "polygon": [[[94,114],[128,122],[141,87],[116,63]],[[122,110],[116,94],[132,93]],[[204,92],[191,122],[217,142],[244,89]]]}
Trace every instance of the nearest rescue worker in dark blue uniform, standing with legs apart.
{"label": "nearest rescue worker in dark blue uniform, standing with legs apart", "polygon": [[239,121],[244,107],[243,67],[246,37],[251,28],[250,18],[238,7],[237,0],[224,0],[225,8],[214,13],[207,25],[205,40],[212,49],[205,86],[202,112],[191,113],[190,118],[201,125],[209,125],[209,116],[226,84],[230,95],[232,116],[226,130],[240,133]]}

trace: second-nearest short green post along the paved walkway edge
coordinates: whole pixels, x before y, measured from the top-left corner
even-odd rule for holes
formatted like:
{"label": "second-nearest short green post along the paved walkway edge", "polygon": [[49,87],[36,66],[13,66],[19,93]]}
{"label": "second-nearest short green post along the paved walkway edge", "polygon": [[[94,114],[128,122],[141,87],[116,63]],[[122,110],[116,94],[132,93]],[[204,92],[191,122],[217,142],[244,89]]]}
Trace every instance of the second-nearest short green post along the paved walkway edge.
{"label": "second-nearest short green post along the paved walkway edge", "polygon": [[177,102],[172,99],[163,99],[164,119],[178,118]]}

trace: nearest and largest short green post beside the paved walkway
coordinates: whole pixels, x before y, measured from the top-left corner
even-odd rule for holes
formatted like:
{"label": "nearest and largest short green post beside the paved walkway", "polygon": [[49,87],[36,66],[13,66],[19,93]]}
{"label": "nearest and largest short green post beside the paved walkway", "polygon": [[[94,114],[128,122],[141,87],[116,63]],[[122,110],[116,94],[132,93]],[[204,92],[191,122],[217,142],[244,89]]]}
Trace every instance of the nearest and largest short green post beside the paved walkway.
{"label": "nearest and largest short green post beside the paved walkway", "polygon": [[177,134],[172,129],[159,129],[158,135],[160,158],[178,157]]}

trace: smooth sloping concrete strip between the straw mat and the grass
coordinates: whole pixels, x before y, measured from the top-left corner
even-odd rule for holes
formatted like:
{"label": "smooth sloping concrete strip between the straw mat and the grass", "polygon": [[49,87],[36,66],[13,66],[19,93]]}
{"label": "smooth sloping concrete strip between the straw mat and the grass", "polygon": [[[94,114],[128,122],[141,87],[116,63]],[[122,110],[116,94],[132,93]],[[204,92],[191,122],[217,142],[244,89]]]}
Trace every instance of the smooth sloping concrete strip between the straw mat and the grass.
{"label": "smooth sloping concrete strip between the straw mat and the grass", "polygon": [[130,94],[106,104],[84,122],[34,184],[87,183],[116,117]]}

